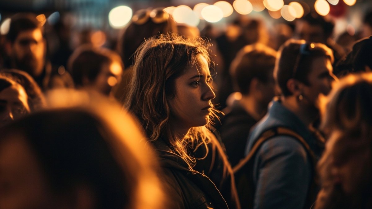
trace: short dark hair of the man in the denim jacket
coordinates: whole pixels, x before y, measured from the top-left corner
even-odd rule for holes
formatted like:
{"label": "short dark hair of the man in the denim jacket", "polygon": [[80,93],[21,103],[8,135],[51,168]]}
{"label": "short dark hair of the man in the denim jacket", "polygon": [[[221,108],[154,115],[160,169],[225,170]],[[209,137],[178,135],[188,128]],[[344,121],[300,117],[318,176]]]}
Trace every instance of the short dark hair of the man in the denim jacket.
{"label": "short dark hair of the man in the denim jacket", "polygon": [[292,95],[287,88],[287,82],[291,78],[309,85],[308,74],[311,71],[312,62],[319,57],[328,58],[331,63],[334,61],[332,50],[324,44],[289,39],[280,47],[274,78],[282,95]]}

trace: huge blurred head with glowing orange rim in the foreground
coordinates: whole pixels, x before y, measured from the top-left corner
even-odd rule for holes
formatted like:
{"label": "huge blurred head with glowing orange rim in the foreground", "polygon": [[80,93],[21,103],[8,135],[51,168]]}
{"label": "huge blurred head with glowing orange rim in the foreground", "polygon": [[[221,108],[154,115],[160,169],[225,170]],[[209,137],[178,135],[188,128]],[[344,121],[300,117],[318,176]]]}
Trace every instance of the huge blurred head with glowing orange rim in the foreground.
{"label": "huge blurred head with glowing orange rim in the foreground", "polygon": [[53,91],[0,130],[0,208],[164,208],[142,131],[101,97]]}

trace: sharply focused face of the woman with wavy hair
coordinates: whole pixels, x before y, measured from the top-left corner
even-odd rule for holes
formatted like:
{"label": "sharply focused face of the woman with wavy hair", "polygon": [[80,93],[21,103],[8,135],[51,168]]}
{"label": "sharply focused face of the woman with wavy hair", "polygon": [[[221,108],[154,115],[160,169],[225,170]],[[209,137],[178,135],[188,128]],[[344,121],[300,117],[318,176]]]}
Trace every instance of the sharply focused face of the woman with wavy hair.
{"label": "sharply focused face of the woman with wavy hair", "polygon": [[176,128],[190,129],[209,122],[215,94],[208,63],[202,55],[199,55],[199,65],[199,72],[196,67],[190,67],[175,80],[176,95],[168,103]]}

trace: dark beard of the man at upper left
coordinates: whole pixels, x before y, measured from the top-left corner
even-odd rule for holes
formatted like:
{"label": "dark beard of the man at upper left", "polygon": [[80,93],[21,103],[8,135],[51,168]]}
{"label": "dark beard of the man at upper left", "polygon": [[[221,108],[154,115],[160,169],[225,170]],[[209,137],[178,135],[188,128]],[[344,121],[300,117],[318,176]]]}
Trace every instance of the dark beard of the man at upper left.
{"label": "dark beard of the man at upper left", "polygon": [[22,59],[14,56],[13,64],[17,69],[25,71],[32,77],[38,77],[41,74],[42,63],[32,55],[25,55]]}

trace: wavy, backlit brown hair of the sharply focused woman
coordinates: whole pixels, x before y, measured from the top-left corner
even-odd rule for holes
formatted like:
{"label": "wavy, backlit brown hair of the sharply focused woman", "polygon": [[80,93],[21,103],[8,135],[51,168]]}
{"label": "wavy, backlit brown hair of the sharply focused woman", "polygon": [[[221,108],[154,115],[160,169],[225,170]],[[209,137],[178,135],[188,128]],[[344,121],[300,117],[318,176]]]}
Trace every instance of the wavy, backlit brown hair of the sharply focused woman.
{"label": "wavy, backlit brown hair of the sharply focused woman", "polygon": [[[199,55],[211,66],[208,47],[209,43],[202,38],[189,40],[173,33],[147,39],[135,53],[135,73],[125,102],[125,107],[139,118],[150,141],[164,139],[190,169],[195,165],[195,158],[187,150],[192,148],[195,151],[214,137],[208,129],[210,122],[191,128],[187,136],[180,139],[173,131],[172,123],[177,121],[171,121],[168,100],[176,96],[176,78],[189,67],[201,69]],[[211,117],[217,117],[217,112],[212,109]]]}

